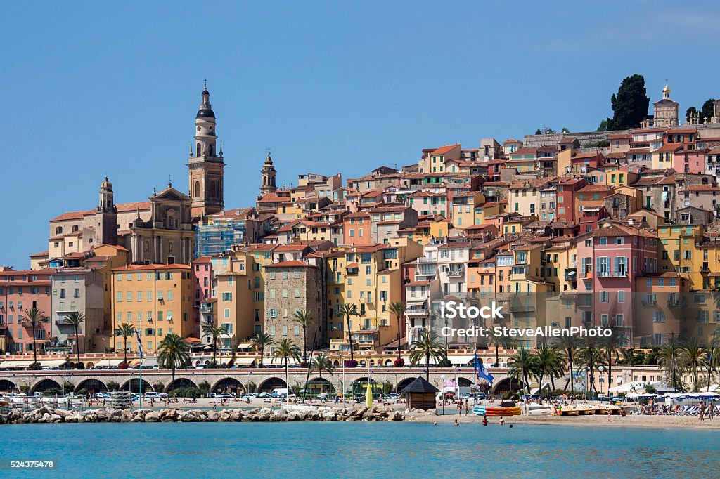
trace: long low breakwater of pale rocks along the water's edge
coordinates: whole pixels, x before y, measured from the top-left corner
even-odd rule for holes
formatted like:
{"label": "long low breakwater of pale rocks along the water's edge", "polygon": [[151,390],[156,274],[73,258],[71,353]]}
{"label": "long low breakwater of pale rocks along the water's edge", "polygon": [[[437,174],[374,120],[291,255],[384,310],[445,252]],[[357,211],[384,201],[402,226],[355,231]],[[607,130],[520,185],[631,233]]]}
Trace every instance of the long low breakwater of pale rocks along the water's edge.
{"label": "long low breakwater of pale rocks along the water's edge", "polygon": [[12,409],[5,424],[42,424],[58,422],[291,422],[291,421],[403,421],[405,414],[383,406],[359,409],[318,408],[285,411],[269,408],[223,409],[89,409],[66,411],[41,407],[35,411]]}

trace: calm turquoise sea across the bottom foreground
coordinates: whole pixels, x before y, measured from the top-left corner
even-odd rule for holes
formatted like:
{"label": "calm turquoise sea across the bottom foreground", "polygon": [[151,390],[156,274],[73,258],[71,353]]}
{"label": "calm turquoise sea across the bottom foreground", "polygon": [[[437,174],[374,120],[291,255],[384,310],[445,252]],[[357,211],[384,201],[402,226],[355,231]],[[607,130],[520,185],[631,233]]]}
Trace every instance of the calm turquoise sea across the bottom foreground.
{"label": "calm turquoise sea across the bottom foreground", "polygon": [[516,424],[156,423],[0,426],[1,478],[716,477],[720,434]]}

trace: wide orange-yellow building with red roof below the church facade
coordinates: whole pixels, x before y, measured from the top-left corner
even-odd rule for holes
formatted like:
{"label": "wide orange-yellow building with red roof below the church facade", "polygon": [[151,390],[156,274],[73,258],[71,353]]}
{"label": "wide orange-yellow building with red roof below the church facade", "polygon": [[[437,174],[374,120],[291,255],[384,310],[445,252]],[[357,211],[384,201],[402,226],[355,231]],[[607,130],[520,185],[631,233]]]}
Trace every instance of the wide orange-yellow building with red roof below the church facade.
{"label": "wide orange-yellow building with red roof below the church facade", "polygon": [[[112,270],[112,329],[132,324],[143,339],[144,352],[156,352],[169,333],[188,337],[192,320],[192,272],[189,265],[126,265]],[[122,337],[114,337],[115,351],[122,351]],[[130,352],[138,351],[135,338]]]}

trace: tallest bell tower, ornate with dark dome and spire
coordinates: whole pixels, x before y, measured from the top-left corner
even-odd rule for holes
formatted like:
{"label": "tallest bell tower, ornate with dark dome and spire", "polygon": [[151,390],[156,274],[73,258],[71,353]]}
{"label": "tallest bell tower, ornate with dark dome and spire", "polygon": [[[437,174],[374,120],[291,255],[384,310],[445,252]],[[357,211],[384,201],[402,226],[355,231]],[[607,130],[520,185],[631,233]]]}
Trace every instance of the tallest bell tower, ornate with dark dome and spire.
{"label": "tallest bell tower, ornate with dark dome and spire", "polygon": [[215,112],[210,105],[207,83],[202,91],[200,108],[195,115],[194,144],[190,147],[187,163],[189,193],[193,216],[214,214],[225,208],[223,201],[223,175],[225,162],[222,160],[222,145],[217,151]]}

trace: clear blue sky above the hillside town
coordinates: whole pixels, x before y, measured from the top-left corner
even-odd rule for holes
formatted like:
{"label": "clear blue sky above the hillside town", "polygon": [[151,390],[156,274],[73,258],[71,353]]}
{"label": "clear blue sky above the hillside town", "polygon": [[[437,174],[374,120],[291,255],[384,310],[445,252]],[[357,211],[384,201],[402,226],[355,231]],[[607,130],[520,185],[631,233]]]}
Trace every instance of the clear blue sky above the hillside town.
{"label": "clear blue sky above the hillside town", "polygon": [[720,98],[709,1],[121,3],[2,6],[0,264],[26,268],[106,173],[117,202],[168,175],[187,191],[204,77],[227,208],[253,202],[268,146],[280,184],[347,178],[423,147],[595,129],[632,73],[651,101],[669,78],[683,112]]}

